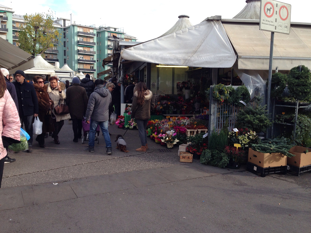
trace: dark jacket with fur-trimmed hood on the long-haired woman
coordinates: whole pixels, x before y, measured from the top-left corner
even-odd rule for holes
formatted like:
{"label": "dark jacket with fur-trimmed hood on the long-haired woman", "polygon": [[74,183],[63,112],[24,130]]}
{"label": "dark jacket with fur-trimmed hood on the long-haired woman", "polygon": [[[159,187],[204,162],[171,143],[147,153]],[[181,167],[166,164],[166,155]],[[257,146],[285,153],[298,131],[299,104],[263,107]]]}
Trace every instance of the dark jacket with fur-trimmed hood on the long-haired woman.
{"label": "dark jacket with fur-trimmed hood on the long-haired woman", "polygon": [[150,90],[146,90],[144,92],[144,97],[145,97],[145,102],[142,105],[138,105],[137,91],[134,92],[131,118],[135,118],[136,120],[149,120],[150,119],[150,108],[154,108],[156,105],[152,99],[152,92]]}

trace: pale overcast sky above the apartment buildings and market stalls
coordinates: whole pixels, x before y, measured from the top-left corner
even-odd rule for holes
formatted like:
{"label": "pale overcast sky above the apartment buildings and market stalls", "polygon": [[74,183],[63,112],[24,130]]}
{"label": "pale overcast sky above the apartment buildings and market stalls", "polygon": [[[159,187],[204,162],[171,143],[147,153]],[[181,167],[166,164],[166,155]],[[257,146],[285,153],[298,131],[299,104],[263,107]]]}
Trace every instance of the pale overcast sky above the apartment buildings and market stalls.
{"label": "pale overcast sky above the apartment buildings and market stalls", "polygon": [[[291,5],[291,21],[311,23],[310,0],[286,0]],[[210,16],[221,15],[228,19],[237,15],[246,5],[245,0],[166,0],[166,1],[81,1],[40,0],[32,4],[25,0],[0,1],[13,8],[14,14],[47,13],[54,17],[70,18],[81,25],[101,25],[123,28],[124,32],[137,37],[138,41],[154,39],[169,30],[179,15],[190,16],[193,25]]]}

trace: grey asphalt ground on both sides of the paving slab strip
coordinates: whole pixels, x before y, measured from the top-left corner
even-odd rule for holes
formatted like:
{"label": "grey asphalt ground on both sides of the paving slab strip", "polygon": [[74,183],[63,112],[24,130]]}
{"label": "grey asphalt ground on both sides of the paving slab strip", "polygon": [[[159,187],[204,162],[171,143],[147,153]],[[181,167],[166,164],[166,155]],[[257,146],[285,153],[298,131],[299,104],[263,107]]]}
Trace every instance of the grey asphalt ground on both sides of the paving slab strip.
{"label": "grey asphalt ground on both sides of the paving slab strip", "polygon": [[[109,130],[112,139],[125,132]],[[125,135],[129,153],[114,149],[112,155],[105,154],[102,136],[95,153],[87,153],[85,145],[72,142],[67,122],[61,133],[60,145],[49,138],[44,149],[34,145],[33,153],[14,154],[17,161],[5,164],[3,190],[133,170],[146,176],[154,168],[187,172],[177,148],[160,152],[164,147],[150,141],[149,153],[136,153],[137,131]],[[310,232],[311,172],[259,177],[220,170],[226,173],[1,210],[1,232]]]}

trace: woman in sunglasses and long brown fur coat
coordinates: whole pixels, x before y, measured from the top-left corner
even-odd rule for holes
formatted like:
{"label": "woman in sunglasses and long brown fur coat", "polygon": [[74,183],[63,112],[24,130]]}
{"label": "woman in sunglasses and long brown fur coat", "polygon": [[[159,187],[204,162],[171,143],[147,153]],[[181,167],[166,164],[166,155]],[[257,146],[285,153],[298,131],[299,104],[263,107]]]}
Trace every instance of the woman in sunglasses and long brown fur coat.
{"label": "woman in sunglasses and long brown fur coat", "polygon": [[53,103],[50,100],[49,93],[47,92],[48,86],[44,85],[44,81],[41,76],[36,75],[34,77],[34,87],[38,97],[38,106],[39,114],[38,117],[42,122],[42,134],[38,135],[36,141],[39,143],[39,146],[44,148],[44,136],[45,132],[53,132],[54,125],[51,118],[51,104]]}

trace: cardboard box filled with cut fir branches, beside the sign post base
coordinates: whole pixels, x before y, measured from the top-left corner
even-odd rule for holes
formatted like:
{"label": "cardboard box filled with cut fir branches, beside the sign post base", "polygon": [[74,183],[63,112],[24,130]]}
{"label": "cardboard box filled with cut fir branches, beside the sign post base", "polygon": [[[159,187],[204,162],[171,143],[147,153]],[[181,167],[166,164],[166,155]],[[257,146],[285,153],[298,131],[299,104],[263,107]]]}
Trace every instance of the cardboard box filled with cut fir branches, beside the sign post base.
{"label": "cardboard box filled with cut fir branches, beside the sign post base", "polygon": [[248,150],[248,162],[258,167],[280,167],[286,166],[287,156],[282,153],[261,153],[251,148]]}

